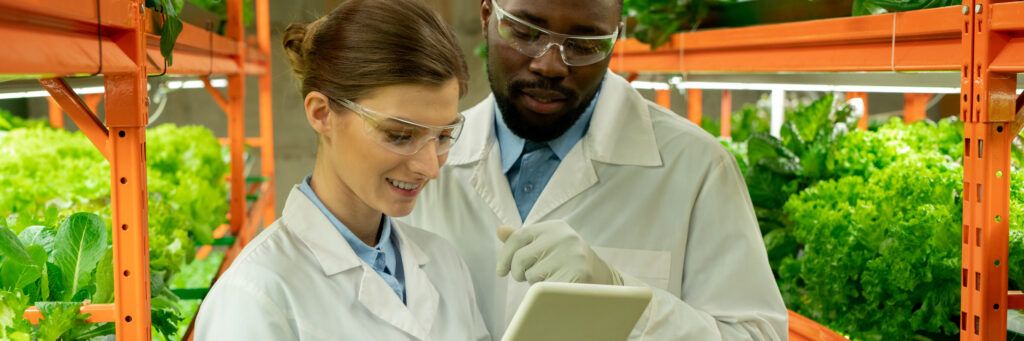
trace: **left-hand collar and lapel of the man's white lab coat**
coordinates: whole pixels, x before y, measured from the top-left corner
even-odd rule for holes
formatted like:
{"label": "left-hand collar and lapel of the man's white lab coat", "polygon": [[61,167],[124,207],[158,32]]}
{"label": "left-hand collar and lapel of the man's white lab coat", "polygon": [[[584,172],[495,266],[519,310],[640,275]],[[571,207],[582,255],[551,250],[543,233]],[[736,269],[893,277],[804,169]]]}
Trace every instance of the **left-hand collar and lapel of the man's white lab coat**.
{"label": "left-hand collar and lapel of the man's white lab coat", "polygon": [[501,151],[495,137],[494,95],[466,111],[463,137],[452,148],[447,164],[470,167],[469,182],[502,224],[520,226],[519,211],[508,178],[502,172]]}

